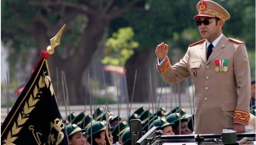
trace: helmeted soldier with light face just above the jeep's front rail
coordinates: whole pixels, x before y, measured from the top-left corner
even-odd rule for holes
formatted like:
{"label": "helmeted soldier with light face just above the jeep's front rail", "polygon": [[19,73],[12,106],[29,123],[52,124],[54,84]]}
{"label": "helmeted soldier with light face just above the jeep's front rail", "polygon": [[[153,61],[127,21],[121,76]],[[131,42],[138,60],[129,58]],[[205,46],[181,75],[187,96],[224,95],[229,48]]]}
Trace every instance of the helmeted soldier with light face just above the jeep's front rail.
{"label": "helmeted soldier with light face just above the jeep's front rail", "polygon": [[172,125],[174,125],[174,123],[167,122],[165,118],[159,118],[154,120],[154,124],[151,123],[149,128],[151,129],[153,126],[159,126],[161,130],[163,130],[162,135],[174,135]]}

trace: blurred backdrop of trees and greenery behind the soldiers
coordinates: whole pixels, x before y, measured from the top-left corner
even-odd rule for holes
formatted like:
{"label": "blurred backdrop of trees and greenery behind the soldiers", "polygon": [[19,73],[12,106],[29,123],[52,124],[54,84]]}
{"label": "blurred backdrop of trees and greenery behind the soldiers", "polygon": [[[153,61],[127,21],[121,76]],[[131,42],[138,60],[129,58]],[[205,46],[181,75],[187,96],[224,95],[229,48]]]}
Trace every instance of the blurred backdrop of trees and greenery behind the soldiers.
{"label": "blurred backdrop of trees and greenery behind the soldiers", "polygon": [[[231,15],[223,34],[246,43],[255,80],[255,0],[214,1]],[[167,103],[172,101],[170,95],[177,93],[188,102],[188,92],[193,97],[191,78],[179,86],[163,83],[155,68],[154,51],[161,42],[167,43],[171,64],[175,64],[183,58],[188,45],[202,39],[193,19],[197,2],[2,0],[1,107],[6,107],[8,91],[8,106],[13,105],[40,51],[46,50],[49,40],[64,24],[61,44],[48,59],[60,106],[64,105],[66,90],[70,105],[92,104],[89,94],[93,104],[131,102],[132,96],[133,102],[148,103],[150,95],[153,102],[159,102],[162,95],[160,102]],[[64,77],[67,87],[62,85]]]}

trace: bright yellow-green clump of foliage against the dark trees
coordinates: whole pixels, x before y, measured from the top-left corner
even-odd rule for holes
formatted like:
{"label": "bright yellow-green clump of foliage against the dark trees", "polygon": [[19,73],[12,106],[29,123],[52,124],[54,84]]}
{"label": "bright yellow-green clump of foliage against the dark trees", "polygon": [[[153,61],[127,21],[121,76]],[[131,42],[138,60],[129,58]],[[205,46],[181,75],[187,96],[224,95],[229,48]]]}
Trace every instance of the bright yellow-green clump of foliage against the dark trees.
{"label": "bright yellow-green clump of foliage against the dark trees", "polygon": [[120,28],[114,32],[105,43],[105,57],[103,64],[124,66],[126,60],[134,53],[133,49],[139,47],[139,43],[133,41],[134,32],[131,27]]}

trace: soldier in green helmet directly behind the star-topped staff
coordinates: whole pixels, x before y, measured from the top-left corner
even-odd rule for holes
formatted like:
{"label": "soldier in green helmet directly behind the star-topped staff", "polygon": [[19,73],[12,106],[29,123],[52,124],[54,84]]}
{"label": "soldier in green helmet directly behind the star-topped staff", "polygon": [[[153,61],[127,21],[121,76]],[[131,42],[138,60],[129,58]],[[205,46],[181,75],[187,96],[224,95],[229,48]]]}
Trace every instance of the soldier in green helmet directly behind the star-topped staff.
{"label": "soldier in green helmet directly behind the star-topped staff", "polygon": [[[87,141],[90,144],[93,145],[104,145],[104,135],[105,135],[105,129],[106,129],[106,122],[104,121],[98,121],[93,123],[91,126],[88,127],[87,133],[88,133],[88,138]],[[91,133],[92,130],[92,133]],[[91,143],[91,139],[92,143]],[[110,134],[110,141],[113,143],[113,136]]]}

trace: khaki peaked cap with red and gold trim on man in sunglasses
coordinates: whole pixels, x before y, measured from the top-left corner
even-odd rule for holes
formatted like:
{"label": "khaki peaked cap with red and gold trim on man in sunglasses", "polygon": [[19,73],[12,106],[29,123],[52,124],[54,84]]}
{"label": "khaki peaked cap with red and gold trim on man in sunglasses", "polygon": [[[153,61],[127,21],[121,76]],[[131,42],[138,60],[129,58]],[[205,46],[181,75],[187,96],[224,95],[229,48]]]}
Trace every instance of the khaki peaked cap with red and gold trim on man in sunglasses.
{"label": "khaki peaked cap with red and gold trim on man in sunglasses", "polygon": [[196,5],[198,15],[194,16],[194,19],[200,17],[212,17],[218,18],[223,21],[230,19],[230,14],[221,5],[211,0],[201,0]]}

